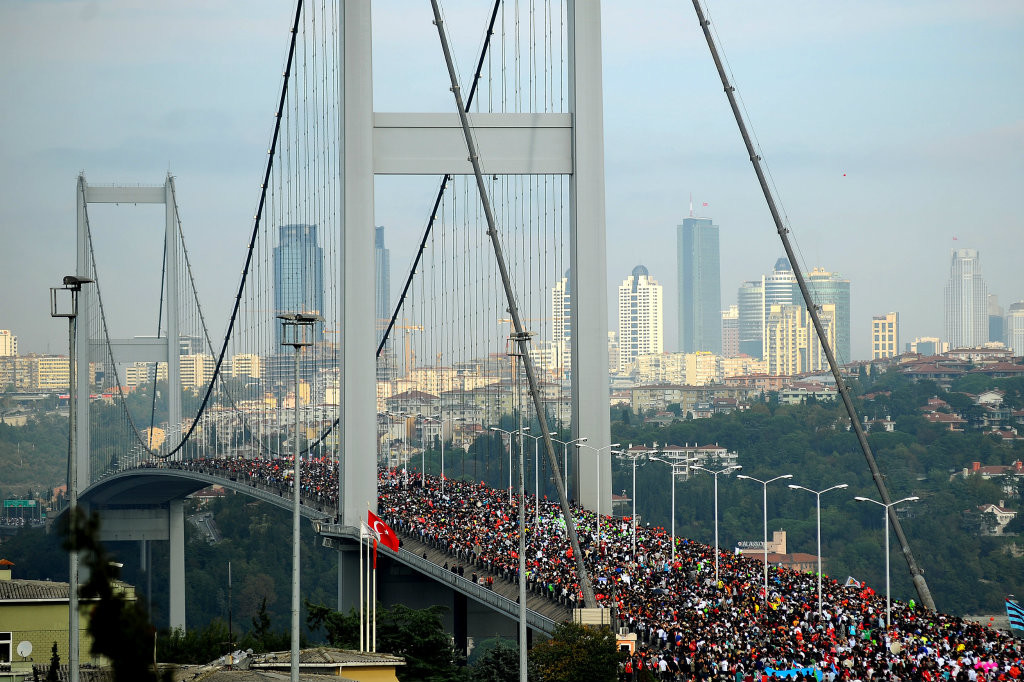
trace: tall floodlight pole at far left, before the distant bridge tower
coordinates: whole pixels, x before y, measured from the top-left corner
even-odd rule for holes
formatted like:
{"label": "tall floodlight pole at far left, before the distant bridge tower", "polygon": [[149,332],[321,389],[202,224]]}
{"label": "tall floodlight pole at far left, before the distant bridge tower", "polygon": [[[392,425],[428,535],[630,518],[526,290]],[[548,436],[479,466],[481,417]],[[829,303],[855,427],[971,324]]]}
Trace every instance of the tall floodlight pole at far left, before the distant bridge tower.
{"label": "tall floodlight pole at far left, before the distant bridge tower", "polygon": [[[68,553],[68,672],[71,682],[79,679],[78,629],[78,547],[75,534],[78,525],[78,449],[75,430],[78,428],[78,294],[89,278],[66,274],[61,287],[50,287],[50,316],[68,318],[68,528],[73,540]],[[70,307],[58,300],[58,292],[68,292]]]}

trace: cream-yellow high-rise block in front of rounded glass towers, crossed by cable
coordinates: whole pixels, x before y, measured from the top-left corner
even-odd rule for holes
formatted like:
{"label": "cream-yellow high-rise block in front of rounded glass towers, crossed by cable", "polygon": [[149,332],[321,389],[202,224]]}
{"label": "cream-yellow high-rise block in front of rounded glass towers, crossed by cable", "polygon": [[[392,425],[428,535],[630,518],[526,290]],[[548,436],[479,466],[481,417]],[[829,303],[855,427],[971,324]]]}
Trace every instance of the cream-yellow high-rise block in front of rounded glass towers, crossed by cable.
{"label": "cream-yellow high-rise block in front of rounded glass towers, crossed by cable", "polygon": [[[836,306],[818,312],[829,344],[836,343]],[[814,325],[801,305],[772,305],[765,316],[765,361],[768,374],[793,376],[828,367]]]}

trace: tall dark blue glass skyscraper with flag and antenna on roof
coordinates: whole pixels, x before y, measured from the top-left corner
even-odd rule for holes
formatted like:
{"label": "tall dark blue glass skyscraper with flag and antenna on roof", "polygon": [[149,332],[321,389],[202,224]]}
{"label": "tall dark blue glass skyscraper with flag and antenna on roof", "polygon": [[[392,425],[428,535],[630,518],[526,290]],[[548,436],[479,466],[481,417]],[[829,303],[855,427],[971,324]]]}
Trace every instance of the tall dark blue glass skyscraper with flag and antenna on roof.
{"label": "tall dark blue glass skyscraper with flag and antenna on roof", "polygon": [[679,282],[679,349],[722,352],[722,283],[718,225],[711,218],[683,218],[676,230]]}

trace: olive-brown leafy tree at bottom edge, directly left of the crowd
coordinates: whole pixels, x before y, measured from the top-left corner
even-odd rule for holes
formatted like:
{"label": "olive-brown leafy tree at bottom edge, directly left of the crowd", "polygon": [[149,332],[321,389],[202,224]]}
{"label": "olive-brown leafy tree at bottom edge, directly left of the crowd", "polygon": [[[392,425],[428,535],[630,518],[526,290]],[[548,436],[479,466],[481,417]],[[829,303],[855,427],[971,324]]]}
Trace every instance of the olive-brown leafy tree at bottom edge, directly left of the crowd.
{"label": "olive-brown leafy tree at bottom edge, directly left of the crowd", "polygon": [[538,682],[613,682],[621,657],[609,628],[563,623],[529,652],[530,677]]}

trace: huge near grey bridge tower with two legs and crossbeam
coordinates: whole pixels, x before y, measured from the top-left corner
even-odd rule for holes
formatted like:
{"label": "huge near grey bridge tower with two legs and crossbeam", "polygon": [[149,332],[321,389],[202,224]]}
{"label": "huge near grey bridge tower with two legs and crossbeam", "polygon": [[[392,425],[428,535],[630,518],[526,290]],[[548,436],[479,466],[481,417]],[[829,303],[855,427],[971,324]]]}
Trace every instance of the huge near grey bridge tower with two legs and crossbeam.
{"label": "huge near grey bridge tower with two legs and crossbeam", "polygon": [[[611,513],[608,452],[607,283],[604,229],[604,132],[601,88],[601,8],[598,0],[568,0],[566,113],[470,115],[488,175],[569,176],[569,263],[572,302],[572,428],[601,449],[600,476],[589,463],[573,466],[575,489],[589,509]],[[379,113],[373,108],[371,0],[341,0],[341,164],[343,167],[342,283],[339,318],[343,433],[339,516],[358,526],[376,511],[377,462],[374,296],[374,176],[472,174],[458,114]],[[427,28],[427,27],[425,27]],[[438,46],[437,59],[441,59]],[[467,88],[468,83],[461,84]],[[597,481],[603,482],[597,491]]]}

